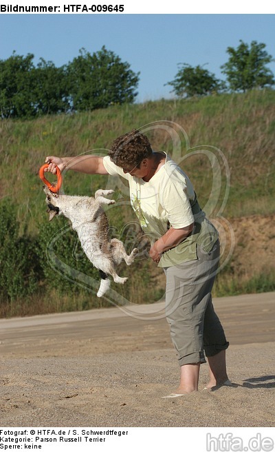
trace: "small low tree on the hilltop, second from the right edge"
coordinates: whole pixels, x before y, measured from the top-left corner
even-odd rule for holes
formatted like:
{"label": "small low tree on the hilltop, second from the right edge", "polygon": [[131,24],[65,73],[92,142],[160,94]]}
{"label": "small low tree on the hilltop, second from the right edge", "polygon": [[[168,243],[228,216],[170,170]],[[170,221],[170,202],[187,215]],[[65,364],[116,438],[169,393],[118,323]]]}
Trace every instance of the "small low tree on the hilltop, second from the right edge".
{"label": "small low tree on the hilltop, second from the right edge", "polygon": [[166,85],[173,86],[173,92],[179,97],[207,96],[213,92],[223,90],[222,81],[215,78],[214,74],[197,65],[192,68],[189,64],[180,63],[181,68],[175,79]]}

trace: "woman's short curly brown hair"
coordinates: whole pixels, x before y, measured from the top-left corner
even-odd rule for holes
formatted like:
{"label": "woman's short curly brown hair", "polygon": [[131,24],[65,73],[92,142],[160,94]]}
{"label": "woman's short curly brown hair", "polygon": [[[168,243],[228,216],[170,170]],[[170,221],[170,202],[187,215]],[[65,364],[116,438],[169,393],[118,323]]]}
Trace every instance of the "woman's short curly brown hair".
{"label": "woman's short curly brown hair", "polygon": [[109,150],[111,161],[122,168],[139,167],[152,153],[148,138],[136,129],[115,138]]}

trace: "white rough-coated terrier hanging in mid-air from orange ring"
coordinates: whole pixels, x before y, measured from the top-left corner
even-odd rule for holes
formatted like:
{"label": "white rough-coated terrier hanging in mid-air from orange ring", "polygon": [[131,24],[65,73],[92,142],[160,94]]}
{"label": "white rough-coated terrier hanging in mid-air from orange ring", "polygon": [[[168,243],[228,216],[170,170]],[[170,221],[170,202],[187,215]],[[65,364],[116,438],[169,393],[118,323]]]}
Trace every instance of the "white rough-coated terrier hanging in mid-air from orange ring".
{"label": "white rough-coated terrier hanging in mid-air from orange ring", "polygon": [[63,214],[69,218],[87,258],[99,270],[101,280],[97,296],[101,297],[109,289],[111,281],[108,275],[113,277],[115,283],[124,284],[128,278],[120,278],[115,266],[123,259],[127,265],[131,265],[137,249],[133,249],[128,256],[120,240],[109,238],[109,223],[102,204],[115,203],[104,198],[112,194],[113,190],[98,190],[94,198],[53,194],[47,187],[43,187],[43,190],[47,196],[50,221],[56,214]]}

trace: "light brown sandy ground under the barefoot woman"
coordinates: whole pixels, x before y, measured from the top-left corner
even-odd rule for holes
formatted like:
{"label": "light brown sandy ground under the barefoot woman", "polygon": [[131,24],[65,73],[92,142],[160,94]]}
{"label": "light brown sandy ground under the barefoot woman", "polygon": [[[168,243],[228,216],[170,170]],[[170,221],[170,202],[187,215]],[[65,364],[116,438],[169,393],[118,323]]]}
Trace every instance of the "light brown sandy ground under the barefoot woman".
{"label": "light brown sandy ground under the barefoot woman", "polygon": [[[163,399],[179,368],[165,318],[137,307],[0,320],[1,427],[272,427],[275,293],[214,300],[233,387]],[[159,304],[158,308],[162,309]],[[146,313],[148,314],[146,316]]]}

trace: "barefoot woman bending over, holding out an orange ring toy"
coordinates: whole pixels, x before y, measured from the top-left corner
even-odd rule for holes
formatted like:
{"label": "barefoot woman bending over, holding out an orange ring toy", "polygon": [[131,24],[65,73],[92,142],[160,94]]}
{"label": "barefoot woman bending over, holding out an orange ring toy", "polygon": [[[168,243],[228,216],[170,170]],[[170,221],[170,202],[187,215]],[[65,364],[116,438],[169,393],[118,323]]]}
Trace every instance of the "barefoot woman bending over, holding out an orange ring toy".
{"label": "barefoot woman bending over, holding out an orange ring toy", "polygon": [[180,381],[166,397],[198,390],[200,364],[208,358],[206,389],[230,385],[225,339],[211,290],[219,265],[219,236],[199,207],[188,176],[164,153],[153,152],[137,130],[118,137],[109,156],[48,156],[47,171],[65,167],[86,174],[122,176],[131,205],[151,238],[150,257],[166,274],[166,318],[177,351]]}

